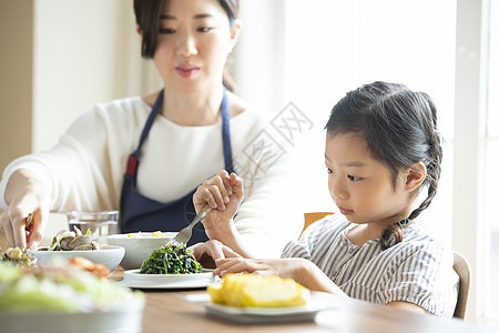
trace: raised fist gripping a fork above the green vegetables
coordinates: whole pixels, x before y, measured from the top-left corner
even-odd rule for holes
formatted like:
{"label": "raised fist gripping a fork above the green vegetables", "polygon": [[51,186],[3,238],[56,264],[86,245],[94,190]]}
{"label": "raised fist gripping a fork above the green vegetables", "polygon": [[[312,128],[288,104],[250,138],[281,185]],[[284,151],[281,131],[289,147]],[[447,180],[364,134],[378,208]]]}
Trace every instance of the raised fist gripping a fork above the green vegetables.
{"label": "raised fist gripping a fork above the green vegetables", "polygon": [[243,198],[243,180],[235,173],[228,174],[225,170],[197,188],[193,195],[196,212],[206,203],[213,209],[203,219],[210,239],[218,239],[218,234],[232,232],[232,219],[237,213]]}

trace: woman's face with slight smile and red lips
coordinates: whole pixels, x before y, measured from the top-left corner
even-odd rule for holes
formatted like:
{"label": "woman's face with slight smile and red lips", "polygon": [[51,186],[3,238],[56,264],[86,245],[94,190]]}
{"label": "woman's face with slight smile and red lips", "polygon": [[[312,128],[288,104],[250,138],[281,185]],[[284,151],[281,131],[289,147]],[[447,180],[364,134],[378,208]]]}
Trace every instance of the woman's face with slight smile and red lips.
{"label": "woman's face with slight smile and red lips", "polygon": [[165,88],[195,92],[222,84],[238,30],[216,0],[165,1],[153,57]]}

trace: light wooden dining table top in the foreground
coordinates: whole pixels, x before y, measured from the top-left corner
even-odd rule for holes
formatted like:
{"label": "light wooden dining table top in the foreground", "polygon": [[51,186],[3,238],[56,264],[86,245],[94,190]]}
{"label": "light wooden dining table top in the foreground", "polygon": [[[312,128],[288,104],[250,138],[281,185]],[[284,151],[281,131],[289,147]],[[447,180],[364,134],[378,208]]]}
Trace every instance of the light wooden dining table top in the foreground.
{"label": "light wooden dining table top in the foreground", "polygon": [[[122,281],[119,266],[109,280]],[[320,311],[312,317],[286,316],[273,321],[241,321],[234,315],[218,316],[207,311],[210,296],[205,287],[142,289],[145,306],[142,332],[498,332],[492,327],[460,319],[440,319],[328,293],[312,292]],[[272,312],[272,309],[268,310]],[[238,319],[238,320],[237,320]]]}

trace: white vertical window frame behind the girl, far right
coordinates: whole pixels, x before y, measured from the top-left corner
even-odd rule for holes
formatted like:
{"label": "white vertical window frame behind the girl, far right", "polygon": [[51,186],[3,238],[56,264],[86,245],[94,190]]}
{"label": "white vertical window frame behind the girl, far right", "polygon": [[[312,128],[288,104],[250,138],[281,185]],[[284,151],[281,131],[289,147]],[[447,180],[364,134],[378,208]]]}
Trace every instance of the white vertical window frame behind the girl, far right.
{"label": "white vertical window frame behind the girl, far right", "polygon": [[452,249],[471,264],[467,317],[478,322],[491,320],[483,302],[490,285],[483,213],[489,6],[490,0],[458,0],[456,21]]}

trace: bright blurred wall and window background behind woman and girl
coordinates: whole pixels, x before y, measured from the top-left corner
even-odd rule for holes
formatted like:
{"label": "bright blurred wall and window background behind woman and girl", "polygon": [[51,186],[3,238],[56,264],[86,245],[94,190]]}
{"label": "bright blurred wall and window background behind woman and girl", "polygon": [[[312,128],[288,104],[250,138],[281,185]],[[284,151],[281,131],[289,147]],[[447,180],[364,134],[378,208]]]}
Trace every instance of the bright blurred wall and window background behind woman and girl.
{"label": "bright blurred wall and window background behind woman and girl", "polygon": [[[51,148],[95,103],[161,88],[141,59],[132,4],[0,0],[0,170]],[[289,165],[303,176],[304,212],[335,209],[323,129],[339,98],[376,80],[434,98],[444,173],[421,218],[471,263],[468,317],[499,321],[499,1],[241,0],[240,17],[237,93],[271,115],[292,103],[313,124],[295,129],[292,149],[303,158]]]}

